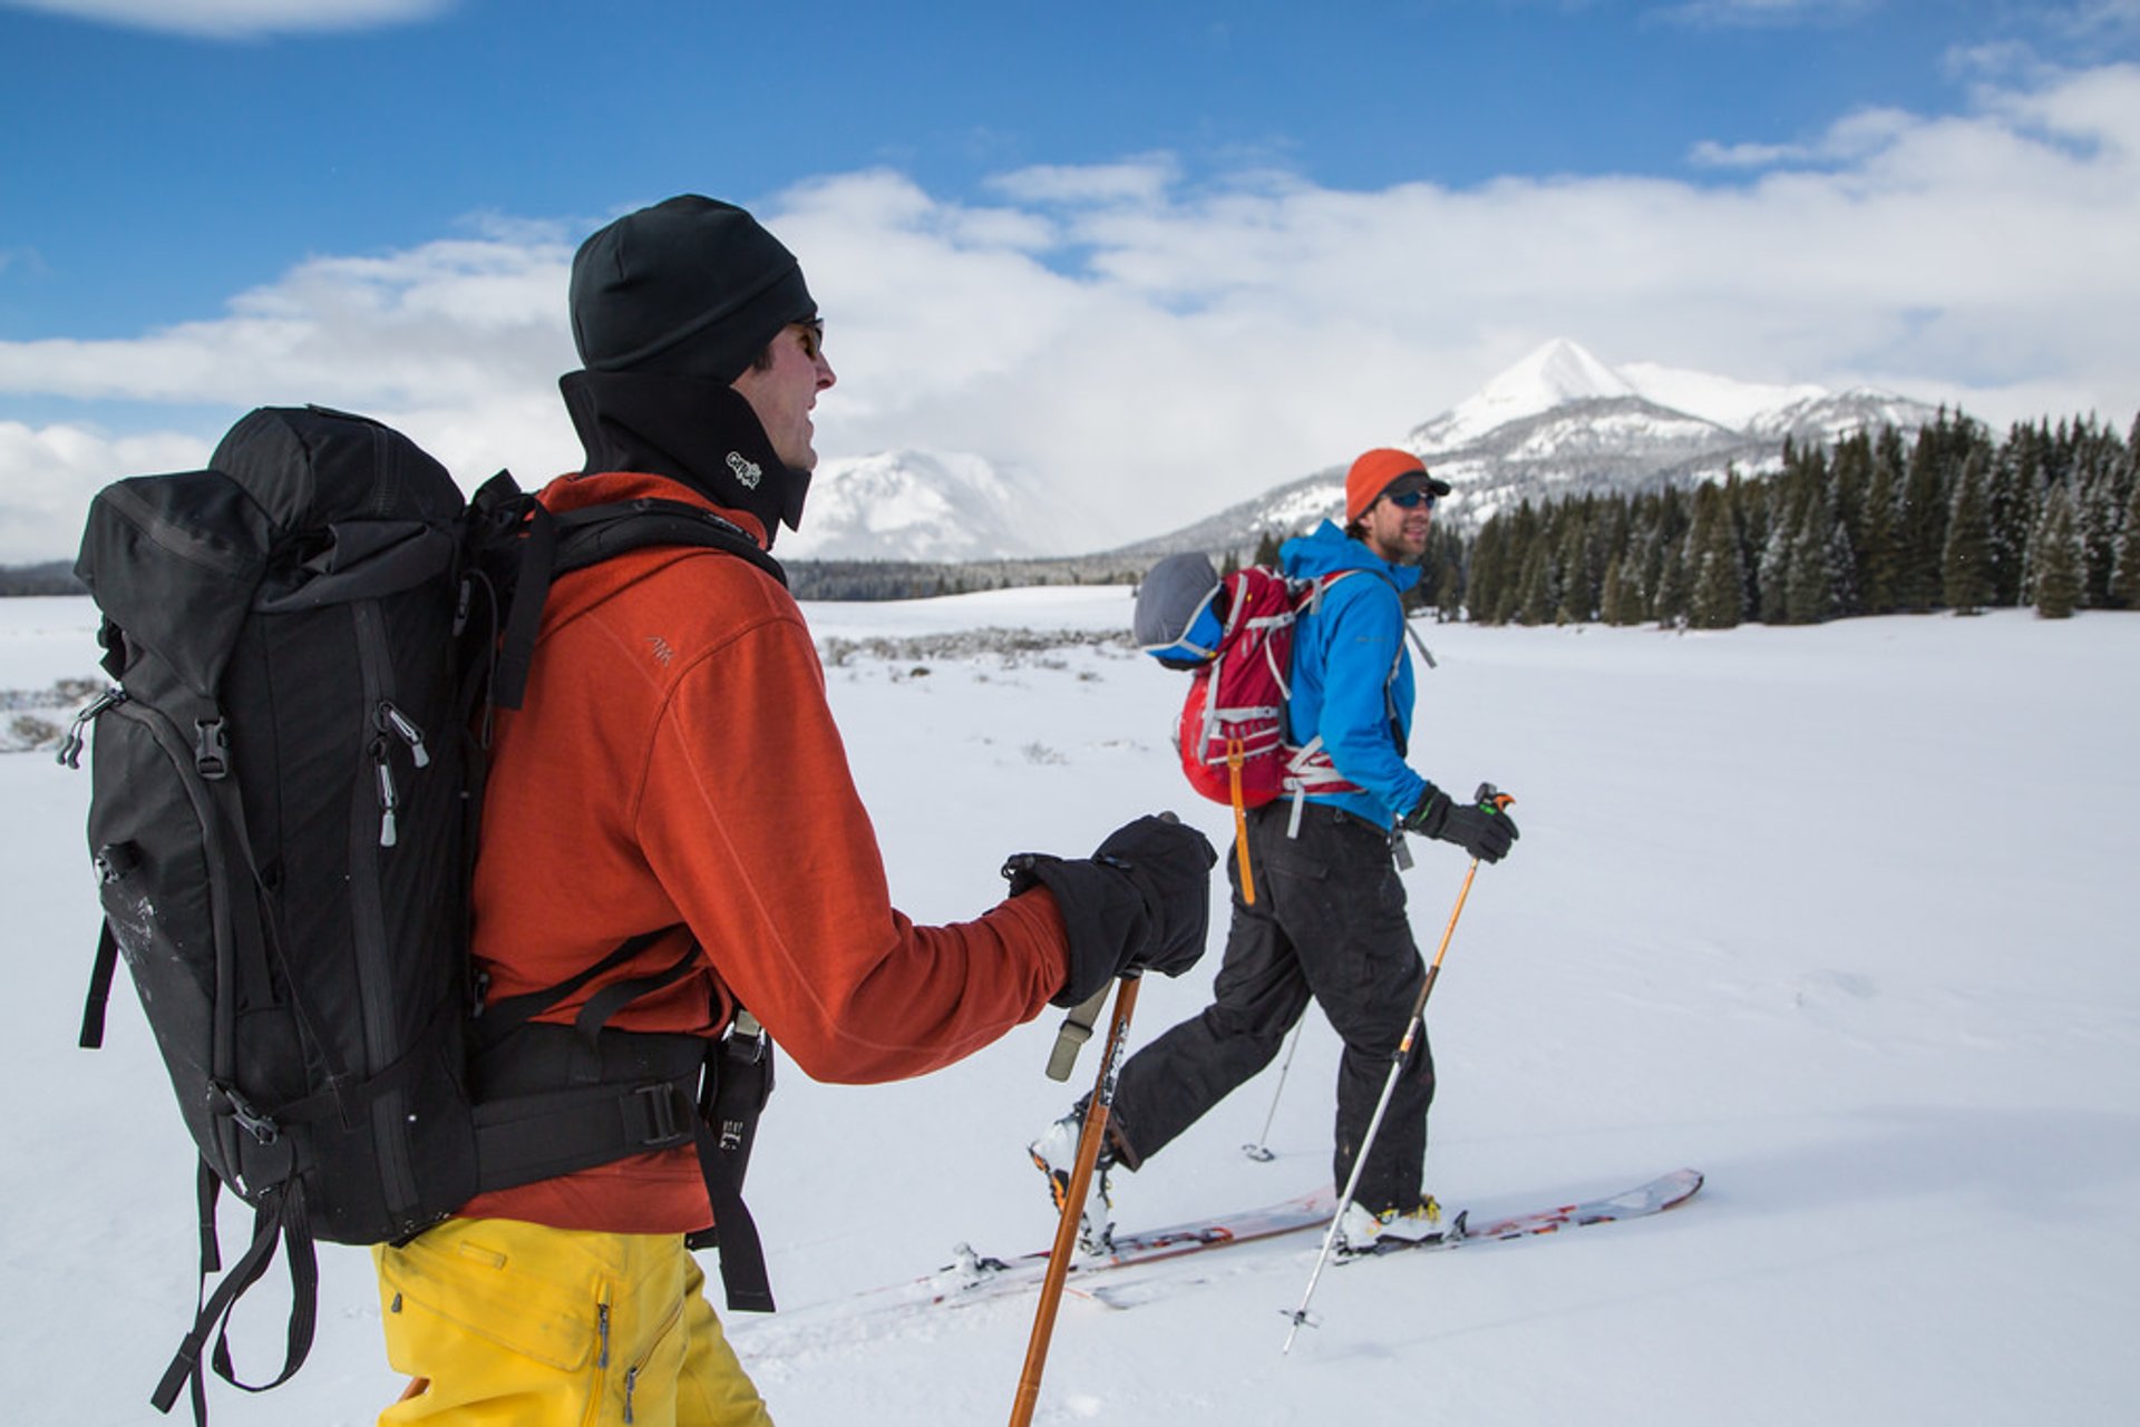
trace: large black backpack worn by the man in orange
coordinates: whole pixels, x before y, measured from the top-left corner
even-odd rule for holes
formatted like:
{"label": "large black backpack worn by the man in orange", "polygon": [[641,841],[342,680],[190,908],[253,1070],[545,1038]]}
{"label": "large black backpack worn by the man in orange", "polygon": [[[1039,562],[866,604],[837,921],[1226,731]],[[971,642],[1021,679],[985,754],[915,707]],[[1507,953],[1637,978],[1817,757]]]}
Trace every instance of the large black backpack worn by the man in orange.
{"label": "large black backpack worn by the man in orange", "polygon": [[[208,471],[122,479],[90,505],[75,573],[118,685],[60,753],[77,764],[96,725],[105,929],[81,1044],[103,1042],[124,956],[201,1153],[203,1301],[158,1410],[190,1382],[205,1418],[210,1333],[216,1374],[246,1391],[304,1363],[315,1239],[404,1241],[482,1190],[651,1149],[700,1147],[730,1307],[773,1307],[738,1198],[770,1091],[762,1031],[747,1014],[723,1042],[603,1027],[698,948],[603,988],[574,1027],[531,1018],[668,929],[488,1008],[467,952],[488,715],[520,702],[552,576],[648,543],[781,578],[691,505],[550,516],[503,473],[469,503],[400,432],[319,406],[255,411]],[[255,1232],[208,1292],[223,1187]],[[255,1386],[223,1329],[278,1241],[289,1341]]]}

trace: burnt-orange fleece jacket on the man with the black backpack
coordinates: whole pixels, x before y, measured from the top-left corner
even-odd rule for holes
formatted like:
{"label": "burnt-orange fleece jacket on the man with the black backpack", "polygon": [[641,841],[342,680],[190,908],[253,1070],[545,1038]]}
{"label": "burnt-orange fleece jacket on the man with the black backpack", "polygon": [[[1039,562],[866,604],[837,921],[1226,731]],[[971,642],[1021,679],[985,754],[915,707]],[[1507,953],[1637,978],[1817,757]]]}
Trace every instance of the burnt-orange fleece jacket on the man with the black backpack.
{"label": "burnt-orange fleece jacket on the man with the black backpack", "polygon": [[[638,496],[708,505],[629,473],[541,492],[556,511]],[[762,539],[751,516],[721,513]],[[1044,888],[952,926],[892,907],[802,612],[719,550],[640,550],[550,590],[524,706],[499,719],[473,916],[490,999],[689,926],[700,973],[610,1025],[717,1035],[743,1003],[828,1083],[948,1065],[1038,1016],[1068,976]],[[683,933],[663,937],[544,1021],[569,1023],[603,984],[681,950]],[[781,1123],[779,1098],[766,1123]],[[462,1213],[599,1232],[713,1217],[689,1147],[482,1194]]]}

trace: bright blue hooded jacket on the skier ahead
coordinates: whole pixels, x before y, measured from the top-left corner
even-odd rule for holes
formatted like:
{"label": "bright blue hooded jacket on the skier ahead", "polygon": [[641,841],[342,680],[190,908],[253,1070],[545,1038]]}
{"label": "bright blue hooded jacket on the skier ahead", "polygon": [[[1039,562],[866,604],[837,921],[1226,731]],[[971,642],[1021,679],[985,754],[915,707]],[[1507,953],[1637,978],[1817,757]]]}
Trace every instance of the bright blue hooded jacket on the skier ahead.
{"label": "bright blue hooded jacket on the skier ahead", "polygon": [[1427,792],[1427,779],[1404,762],[1412,736],[1404,590],[1419,584],[1419,569],[1391,565],[1329,520],[1314,535],[1288,539],[1278,558],[1295,580],[1320,580],[1342,569],[1372,576],[1331,582],[1320,605],[1295,625],[1286,727],[1297,745],[1320,734],[1338,772],[1363,789],[1310,794],[1310,802],[1393,828]]}

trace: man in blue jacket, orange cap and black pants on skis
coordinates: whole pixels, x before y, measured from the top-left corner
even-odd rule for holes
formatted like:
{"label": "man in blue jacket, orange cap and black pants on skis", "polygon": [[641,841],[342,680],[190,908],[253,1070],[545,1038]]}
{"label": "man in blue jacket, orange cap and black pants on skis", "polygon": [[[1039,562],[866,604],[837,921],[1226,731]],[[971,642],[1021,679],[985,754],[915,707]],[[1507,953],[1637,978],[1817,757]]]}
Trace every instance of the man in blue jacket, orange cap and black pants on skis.
{"label": "man in blue jacket, orange cap and black pants on skis", "polygon": [[[1269,1065],[1310,997],[1344,1038],[1331,1160],[1333,1183],[1344,1185],[1425,978],[1397,879],[1400,837],[1423,832],[1485,862],[1507,856],[1517,837],[1494,804],[1457,802],[1406,764],[1404,590],[1419,582],[1434,501],[1447,494],[1449,484],[1410,451],[1367,451],[1346,473],[1346,526],[1325,520],[1280,552],[1288,578],[1323,582],[1320,601],[1295,627],[1286,706],[1288,740],[1310,751],[1312,768],[1299,800],[1248,813],[1254,903],[1241,899],[1239,862],[1226,862],[1233,926],[1211,1006],[1121,1068],[1102,1172],[1085,1204],[1087,1247],[1106,1237],[1106,1170],[1141,1168]],[[1378,1234],[1434,1232],[1436,1207],[1419,1187],[1432,1100],[1434,1057],[1419,1035],[1342,1213],[1348,1249]],[[1083,1106],[1029,1147],[1057,1202],[1081,1121]]]}

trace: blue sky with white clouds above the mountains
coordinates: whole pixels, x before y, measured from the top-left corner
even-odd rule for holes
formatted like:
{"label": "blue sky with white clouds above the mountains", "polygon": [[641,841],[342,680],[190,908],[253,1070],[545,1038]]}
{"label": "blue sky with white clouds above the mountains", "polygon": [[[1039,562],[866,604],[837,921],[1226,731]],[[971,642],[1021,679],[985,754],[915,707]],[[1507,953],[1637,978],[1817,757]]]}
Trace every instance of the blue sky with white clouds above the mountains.
{"label": "blue sky with white clouds above the mountains", "polygon": [[0,0],[0,561],[261,402],[574,464],[563,265],[678,190],[805,259],[826,456],[1089,479],[1096,539],[1554,336],[2140,394],[2140,0]]}

